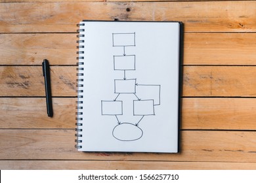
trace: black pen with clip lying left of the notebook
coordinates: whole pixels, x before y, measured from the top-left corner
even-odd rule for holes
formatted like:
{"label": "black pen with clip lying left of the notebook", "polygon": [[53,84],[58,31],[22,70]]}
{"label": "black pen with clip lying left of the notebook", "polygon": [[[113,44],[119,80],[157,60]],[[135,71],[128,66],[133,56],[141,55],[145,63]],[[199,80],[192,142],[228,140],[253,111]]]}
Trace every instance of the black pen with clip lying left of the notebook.
{"label": "black pen with clip lying left of the notebook", "polygon": [[46,95],[47,114],[49,117],[53,117],[53,102],[52,102],[52,93],[51,93],[49,61],[47,59],[43,59],[42,66],[43,66],[43,76],[45,77],[45,95]]}

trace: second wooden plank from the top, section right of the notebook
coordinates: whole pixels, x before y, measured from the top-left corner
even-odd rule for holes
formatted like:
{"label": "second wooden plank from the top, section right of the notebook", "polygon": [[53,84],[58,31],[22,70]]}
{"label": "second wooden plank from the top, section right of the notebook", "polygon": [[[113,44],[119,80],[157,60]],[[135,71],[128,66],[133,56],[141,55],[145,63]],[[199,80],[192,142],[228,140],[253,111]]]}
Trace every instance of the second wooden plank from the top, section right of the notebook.
{"label": "second wooden plank from the top, section right of the notebook", "polygon": [[256,65],[255,33],[186,33],[184,65]]}

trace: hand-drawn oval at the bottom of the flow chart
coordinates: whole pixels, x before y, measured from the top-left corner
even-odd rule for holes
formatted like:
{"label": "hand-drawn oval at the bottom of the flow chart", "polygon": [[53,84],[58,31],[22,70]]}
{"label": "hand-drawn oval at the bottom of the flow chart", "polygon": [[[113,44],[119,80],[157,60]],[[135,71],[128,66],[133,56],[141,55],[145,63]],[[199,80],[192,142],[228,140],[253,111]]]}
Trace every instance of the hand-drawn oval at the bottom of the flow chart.
{"label": "hand-drawn oval at the bottom of the flow chart", "polygon": [[142,137],[143,131],[137,125],[122,123],[114,127],[112,135],[119,141],[136,141]]}

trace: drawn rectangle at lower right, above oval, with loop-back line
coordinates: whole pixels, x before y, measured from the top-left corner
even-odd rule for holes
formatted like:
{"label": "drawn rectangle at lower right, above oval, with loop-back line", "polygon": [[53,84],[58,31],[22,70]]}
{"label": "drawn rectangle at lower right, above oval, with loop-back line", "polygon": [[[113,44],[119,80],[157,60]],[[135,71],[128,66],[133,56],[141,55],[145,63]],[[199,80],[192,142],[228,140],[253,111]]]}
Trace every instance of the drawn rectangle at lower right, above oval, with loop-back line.
{"label": "drawn rectangle at lower right, above oval, with loop-back line", "polygon": [[154,100],[133,101],[134,116],[149,116],[155,115]]}

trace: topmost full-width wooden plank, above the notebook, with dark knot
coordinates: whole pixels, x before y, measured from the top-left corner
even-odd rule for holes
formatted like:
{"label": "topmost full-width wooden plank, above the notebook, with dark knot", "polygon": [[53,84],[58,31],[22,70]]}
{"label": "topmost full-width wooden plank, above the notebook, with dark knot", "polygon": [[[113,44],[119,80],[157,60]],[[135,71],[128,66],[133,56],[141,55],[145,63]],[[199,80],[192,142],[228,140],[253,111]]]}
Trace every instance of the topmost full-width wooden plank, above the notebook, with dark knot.
{"label": "topmost full-width wooden plank, above the notebook, with dark knot", "polygon": [[114,18],[182,21],[186,32],[256,30],[256,1],[1,3],[0,10],[1,33],[75,32],[83,19]]}

